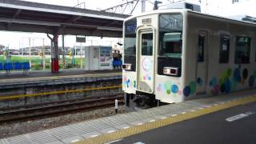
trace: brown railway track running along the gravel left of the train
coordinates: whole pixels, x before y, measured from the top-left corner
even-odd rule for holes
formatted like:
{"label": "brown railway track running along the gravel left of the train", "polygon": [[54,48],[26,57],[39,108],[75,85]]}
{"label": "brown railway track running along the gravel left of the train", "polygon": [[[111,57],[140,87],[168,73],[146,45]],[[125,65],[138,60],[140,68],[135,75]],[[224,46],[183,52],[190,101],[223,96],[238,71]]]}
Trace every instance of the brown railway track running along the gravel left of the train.
{"label": "brown railway track running along the gravel left of the train", "polygon": [[79,102],[65,102],[52,106],[40,106],[36,108],[26,108],[10,110],[0,113],[0,123],[24,122],[38,118],[49,118],[58,115],[72,114],[80,111],[97,110],[114,106],[114,100],[118,99],[118,105],[123,105],[122,94],[111,95],[107,98],[86,99]]}

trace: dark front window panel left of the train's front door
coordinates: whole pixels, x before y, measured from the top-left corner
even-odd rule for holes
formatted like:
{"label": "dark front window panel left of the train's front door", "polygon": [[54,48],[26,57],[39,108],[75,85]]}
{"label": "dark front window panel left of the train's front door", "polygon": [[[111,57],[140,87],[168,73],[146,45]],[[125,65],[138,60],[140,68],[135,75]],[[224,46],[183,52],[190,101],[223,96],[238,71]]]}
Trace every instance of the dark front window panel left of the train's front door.
{"label": "dark front window panel left of the train's front door", "polygon": [[124,63],[130,63],[132,71],[136,67],[136,27],[136,18],[125,22]]}

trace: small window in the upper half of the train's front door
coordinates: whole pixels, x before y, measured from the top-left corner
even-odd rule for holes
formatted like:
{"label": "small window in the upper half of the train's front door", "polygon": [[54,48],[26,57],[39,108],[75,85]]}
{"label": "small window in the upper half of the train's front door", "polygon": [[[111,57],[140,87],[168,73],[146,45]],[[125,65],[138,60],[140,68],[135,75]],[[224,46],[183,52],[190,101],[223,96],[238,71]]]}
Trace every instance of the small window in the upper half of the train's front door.
{"label": "small window in the upper half of the train's front door", "polygon": [[153,54],[153,33],[142,34],[142,55]]}

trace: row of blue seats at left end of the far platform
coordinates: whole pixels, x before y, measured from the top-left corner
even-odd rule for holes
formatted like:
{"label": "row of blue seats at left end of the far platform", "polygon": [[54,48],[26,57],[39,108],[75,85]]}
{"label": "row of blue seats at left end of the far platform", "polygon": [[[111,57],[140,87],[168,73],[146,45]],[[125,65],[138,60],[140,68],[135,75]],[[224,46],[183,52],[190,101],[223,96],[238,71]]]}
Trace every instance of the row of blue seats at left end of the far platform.
{"label": "row of blue seats at left end of the far platform", "polygon": [[6,75],[10,74],[10,70],[23,70],[23,74],[28,74],[30,62],[0,63],[0,70],[6,70]]}

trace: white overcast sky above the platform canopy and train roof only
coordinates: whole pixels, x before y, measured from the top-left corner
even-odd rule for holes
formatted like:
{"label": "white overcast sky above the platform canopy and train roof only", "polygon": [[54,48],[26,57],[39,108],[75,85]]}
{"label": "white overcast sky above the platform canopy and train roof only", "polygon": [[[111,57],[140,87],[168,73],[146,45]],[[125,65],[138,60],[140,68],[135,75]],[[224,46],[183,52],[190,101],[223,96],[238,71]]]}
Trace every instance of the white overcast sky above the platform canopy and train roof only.
{"label": "white overcast sky above the platform canopy and train roof only", "polygon": [[[42,2],[60,6],[76,6],[78,3],[85,2],[86,9],[104,10],[111,6],[126,2],[126,0],[26,0],[29,2]],[[130,0],[129,0],[130,1]],[[162,2],[162,8],[167,3],[180,0],[158,0]],[[237,4],[232,4],[232,0],[201,0],[202,10],[210,14],[230,15],[230,14],[249,14],[256,17],[256,0],[238,0]],[[154,0],[147,0],[146,10],[152,10]],[[199,0],[188,0],[188,2],[199,2]],[[161,6],[160,5],[160,6]],[[82,5],[83,6],[83,5]],[[141,10],[141,3],[138,3],[137,13]],[[127,8],[127,10],[130,10]]]}

